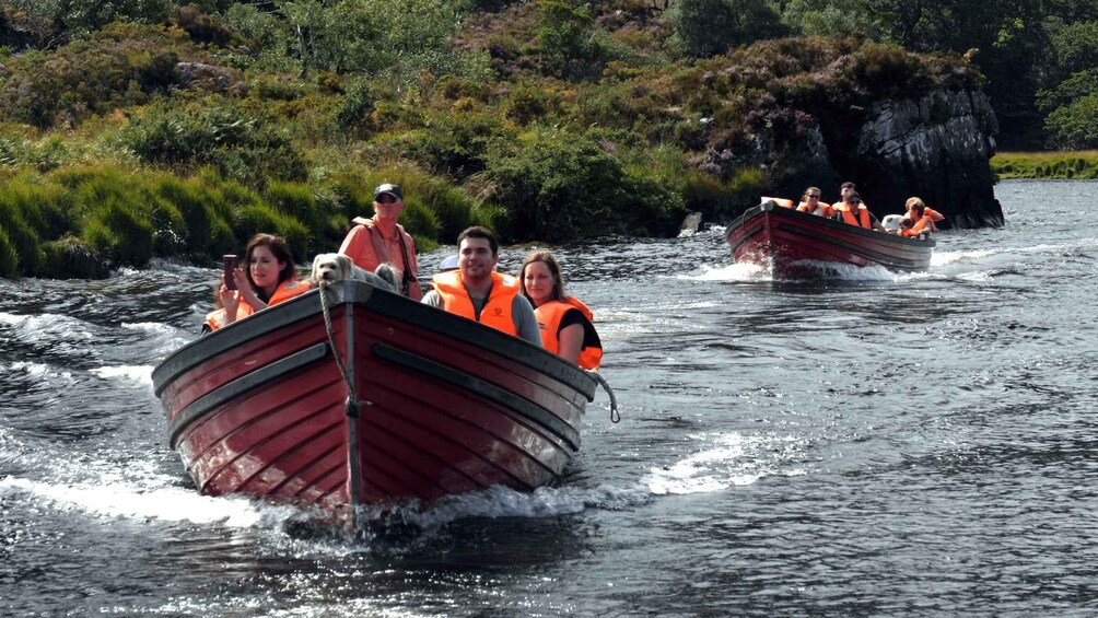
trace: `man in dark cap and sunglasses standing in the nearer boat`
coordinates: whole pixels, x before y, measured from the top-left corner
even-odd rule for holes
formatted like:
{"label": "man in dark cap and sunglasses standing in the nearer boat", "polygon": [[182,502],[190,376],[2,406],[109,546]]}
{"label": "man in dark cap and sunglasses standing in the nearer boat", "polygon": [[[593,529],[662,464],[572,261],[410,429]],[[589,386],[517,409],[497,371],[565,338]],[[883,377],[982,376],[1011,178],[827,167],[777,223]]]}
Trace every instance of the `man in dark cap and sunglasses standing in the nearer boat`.
{"label": "man in dark cap and sunglasses standing in the nearer boat", "polygon": [[419,288],[419,267],[415,260],[415,243],[404,227],[396,223],[404,211],[404,192],[400,184],[379,184],[373,190],[373,216],[357,216],[356,224],[339,252],[349,257],[360,268],[373,272],[379,265],[391,263],[396,269],[401,293],[414,300],[423,297]]}

